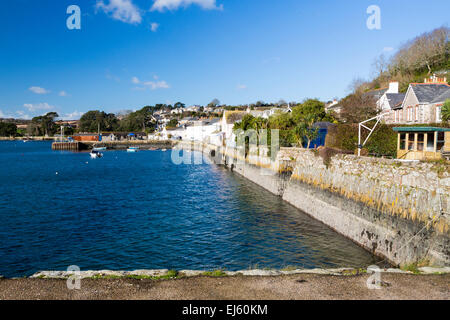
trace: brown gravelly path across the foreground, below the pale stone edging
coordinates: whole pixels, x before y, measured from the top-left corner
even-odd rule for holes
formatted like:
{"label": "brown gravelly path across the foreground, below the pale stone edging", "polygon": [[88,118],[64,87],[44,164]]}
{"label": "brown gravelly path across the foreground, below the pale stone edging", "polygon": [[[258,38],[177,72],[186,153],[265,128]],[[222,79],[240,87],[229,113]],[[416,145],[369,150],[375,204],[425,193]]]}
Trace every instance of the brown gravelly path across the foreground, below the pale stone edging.
{"label": "brown gravelly path across the foreground, below the pale stone edging", "polygon": [[310,300],[450,299],[450,274],[383,274],[384,286],[369,290],[369,275],[299,274],[275,277],[191,277],[174,280],[83,279],[80,290],[66,280],[3,279],[0,299]]}

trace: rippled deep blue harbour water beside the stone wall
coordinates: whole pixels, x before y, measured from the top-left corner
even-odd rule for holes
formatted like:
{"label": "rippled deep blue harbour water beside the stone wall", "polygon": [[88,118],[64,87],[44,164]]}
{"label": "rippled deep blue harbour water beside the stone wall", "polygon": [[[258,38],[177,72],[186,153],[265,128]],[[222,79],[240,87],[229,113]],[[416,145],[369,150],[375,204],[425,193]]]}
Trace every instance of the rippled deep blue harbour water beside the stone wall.
{"label": "rippled deep blue harbour water beside the stone wall", "polygon": [[[170,152],[0,142],[0,274],[363,267],[376,258],[264,189]],[[58,174],[56,174],[58,173]]]}

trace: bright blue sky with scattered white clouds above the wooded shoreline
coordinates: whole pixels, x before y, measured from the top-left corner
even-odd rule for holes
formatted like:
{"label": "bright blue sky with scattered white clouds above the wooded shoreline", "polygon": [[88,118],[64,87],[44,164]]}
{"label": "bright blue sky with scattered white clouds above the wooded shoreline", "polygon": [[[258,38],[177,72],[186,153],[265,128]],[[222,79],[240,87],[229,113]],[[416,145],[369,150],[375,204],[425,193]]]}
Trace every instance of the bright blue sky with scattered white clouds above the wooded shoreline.
{"label": "bright blue sky with scattered white clouds above the wooded shoreline", "polygon": [[[72,4],[81,30],[66,27]],[[381,30],[366,27],[370,5]],[[1,1],[0,117],[343,97],[448,12],[448,0]]]}

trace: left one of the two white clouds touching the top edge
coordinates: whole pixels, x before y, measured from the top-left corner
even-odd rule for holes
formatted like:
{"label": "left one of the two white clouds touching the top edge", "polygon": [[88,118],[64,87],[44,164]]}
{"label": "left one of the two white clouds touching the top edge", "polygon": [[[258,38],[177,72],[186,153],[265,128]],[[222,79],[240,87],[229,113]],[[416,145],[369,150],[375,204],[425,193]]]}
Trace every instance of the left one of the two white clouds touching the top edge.
{"label": "left one of the two white clouds touching the top edge", "polygon": [[96,8],[122,22],[131,24],[142,22],[141,10],[131,0],[109,0],[108,4],[103,0],[97,0]]}

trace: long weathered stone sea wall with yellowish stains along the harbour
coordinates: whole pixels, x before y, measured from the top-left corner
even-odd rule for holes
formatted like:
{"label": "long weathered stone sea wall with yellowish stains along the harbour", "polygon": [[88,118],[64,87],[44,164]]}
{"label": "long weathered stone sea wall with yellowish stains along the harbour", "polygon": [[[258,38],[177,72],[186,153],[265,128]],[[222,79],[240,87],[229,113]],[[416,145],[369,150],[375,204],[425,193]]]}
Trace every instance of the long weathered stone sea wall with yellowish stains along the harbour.
{"label": "long weathered stone sea wall with yellowish stains along the harbour", "polygon": [[[181,144],[183,145],[183,144]],[[180,145],[180,146],[181,146]],[[184,144],[396,265],[450,265],[448,166]],[[330,240],[332,241],[332,239]]]}

